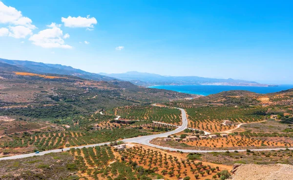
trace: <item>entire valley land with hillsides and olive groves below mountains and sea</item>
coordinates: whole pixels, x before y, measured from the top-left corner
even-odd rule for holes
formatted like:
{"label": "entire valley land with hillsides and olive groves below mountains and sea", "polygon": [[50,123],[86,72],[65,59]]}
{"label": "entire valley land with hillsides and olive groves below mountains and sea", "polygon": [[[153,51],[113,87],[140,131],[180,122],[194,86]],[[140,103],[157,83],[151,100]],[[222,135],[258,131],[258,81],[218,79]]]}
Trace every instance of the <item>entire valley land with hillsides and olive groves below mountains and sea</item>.
{"label": "entire valley land with hillsides and olive groves below mountains and sea", "polygon": [[[7,67],[15,68],[13,66]],[[108,176],[115,180],[121,177],[123,180],[130,179],[129,177],[133,180],[177,180],[178,177],[207,180],[230,177],[229,172],[235,162],[291,164],[293,151],[289,149],[275,152],[254,152],[249,149],[292,147],[293,103],[290,104],[289,101],[293,99],[292,92],[286,90],[272,94],[257,94],[232,90],[188,100],[188,94],[144,88],[126,81],[106,82],[69,75],[0,71],[0,157],[34,151],[42,153],[65,147],[84,147],[109,141],[109,145],[113,145],[123,143],[119,140],[124,138],[174,130],[175,127],[171,124],[180,125],[180,111],[150,105],[157,102],[167,102],[168,106],[185,108],[188,127],[218,135],[218,132],[233,130],[239,123],[251,123],[246,124],[250,125],[249,127],[243,125],[243,131],[230,133],[227,137],[217,136],[194,141],[182,139],[178,142],[172,140],[168,142],[171,143],[169,146],[158,140],[159,145],[167,147],[175,145],[180,149],[196,150],[222,148],[227,150],[226,152],[188,154],[131,143],[126,143],[126,151],[118,151],[116,147],[108,145],[71,148],[68,152],[64,150],[62,153],[44,156],[3,160],[0,165],[3,169],[0,171],[3,174],[1,178],[13,180],[39,177],[58,180],[61,175],[56,172],[61,171],[62,177],[68,180],[106,179]],[[262,100],[265,99],[271,104],[263,106]],[[290,106],[275,106],[272,102],[287,102]],[[265,118],[277,114],[276,112],[279,113],[280,120],[288,122],[263,122]],[[116,120],[117,117],[120,119]],[[224,118],[235,124],[222,125]],[[263,129],[268,130],[270,127],[273,132],[262,132]],[[184,134],[180,132],[174,134],[174,137],[176,135],[181,139],[186,135],[199,135],[199,132],[186,129]],[[240,148],[248,150],[236,151]],[[160,165],[159,162],[163,162],[164,159],[167,159],[168,165],[163,167],[163,163]],[[176,166],[169,166],[175,163]],[[282,175],[282,168],[276,168],[278,176],[272,177],[287,177],[286,174],[279,176]],[[95,171],[96,169],[99,170]],[[255,169],[257,174],[250,171],[249,177],[260,177],[263,176],[262,172],[267,172],[263,166]],[[269,171],[272,171],[272,168]],[[144,177],[137,177],[142,174]],[[240,167],[233,178],[238,176],[248,179],[243,174],[245,173],[241,174]]]}

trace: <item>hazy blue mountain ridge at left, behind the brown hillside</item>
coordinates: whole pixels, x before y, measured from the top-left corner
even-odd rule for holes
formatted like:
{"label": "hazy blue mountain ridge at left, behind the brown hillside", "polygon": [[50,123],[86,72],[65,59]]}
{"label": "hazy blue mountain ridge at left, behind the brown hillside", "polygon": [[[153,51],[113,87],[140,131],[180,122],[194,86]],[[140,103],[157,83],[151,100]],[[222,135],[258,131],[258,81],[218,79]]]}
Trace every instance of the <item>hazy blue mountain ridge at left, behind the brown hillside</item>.
{"label": "hazy blue mountain ridge at left, behind the brown hillside", "polygon": [[33,61],[7,60],[0,58],[0,70],[2,71],[22,71],[32,73],[46,73],[46,74],[63,74],[77,76],[85,79],[92,79],[97,81],[111,81],[115,78],[103,76],[97,73],[86,72],[81,69],[76,69],[70,66],[63,66],[57,64],[44,64]]}

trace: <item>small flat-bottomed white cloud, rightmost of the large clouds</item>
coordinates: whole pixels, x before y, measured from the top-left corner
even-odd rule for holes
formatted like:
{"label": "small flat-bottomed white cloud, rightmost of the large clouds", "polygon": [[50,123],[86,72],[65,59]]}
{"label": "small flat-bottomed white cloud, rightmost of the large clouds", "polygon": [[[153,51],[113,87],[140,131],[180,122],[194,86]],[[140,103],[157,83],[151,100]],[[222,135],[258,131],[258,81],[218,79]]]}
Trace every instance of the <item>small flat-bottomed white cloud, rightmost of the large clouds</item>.
{"label": "small flat-bottomed white cloud, rightmost of the large clouds", "polygon": [[90,28],[94,27],[94,24],[97,24],[96,18],[92,17],[90,18],[89,15],[86,16],[86,18],[83,17],[71,17],[68,16],[68,18],[61,18],[61,21],[64,23],[65,27],[87,27],[89,30]]}

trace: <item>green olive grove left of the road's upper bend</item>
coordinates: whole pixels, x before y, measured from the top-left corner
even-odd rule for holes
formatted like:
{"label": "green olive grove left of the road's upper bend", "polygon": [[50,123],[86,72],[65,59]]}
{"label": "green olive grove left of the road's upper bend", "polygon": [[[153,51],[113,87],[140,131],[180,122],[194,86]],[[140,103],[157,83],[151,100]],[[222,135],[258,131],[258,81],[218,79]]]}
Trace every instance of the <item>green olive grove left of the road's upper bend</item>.
{"label": "green olive grove left of the road's upper bend", "polygon": [[168,124],[181,124],[181,112],[178,109],[156,106],[126,106],[114,110],[121,119],[150,120]]}

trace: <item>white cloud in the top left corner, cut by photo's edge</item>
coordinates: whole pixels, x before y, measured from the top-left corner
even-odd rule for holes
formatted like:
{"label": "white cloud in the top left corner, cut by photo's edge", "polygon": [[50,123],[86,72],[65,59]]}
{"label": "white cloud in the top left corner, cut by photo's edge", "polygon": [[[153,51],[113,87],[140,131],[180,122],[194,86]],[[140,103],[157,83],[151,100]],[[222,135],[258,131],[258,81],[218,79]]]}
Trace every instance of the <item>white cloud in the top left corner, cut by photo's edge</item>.
{"label": "white cloud in the top left corner, cut by photo's edge", "polygon": [[36,29],[37,27],[32,24],[32,20],[23,17],[21,11],[11,6],[6,6],[0,1],[0,23],[10,25],[21,25],[30,29]]}

